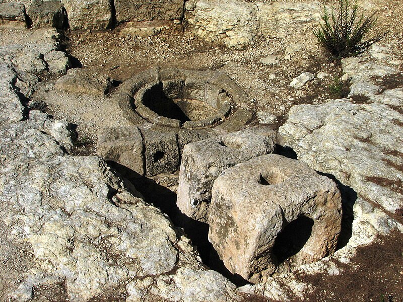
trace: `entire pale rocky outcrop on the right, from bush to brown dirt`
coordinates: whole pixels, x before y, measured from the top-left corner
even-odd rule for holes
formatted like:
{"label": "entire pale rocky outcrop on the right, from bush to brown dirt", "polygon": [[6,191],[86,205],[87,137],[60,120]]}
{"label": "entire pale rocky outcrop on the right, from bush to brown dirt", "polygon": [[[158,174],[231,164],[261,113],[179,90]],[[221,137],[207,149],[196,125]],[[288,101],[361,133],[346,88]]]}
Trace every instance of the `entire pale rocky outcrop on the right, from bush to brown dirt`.
{"label": "entire pale rocky outcrop on the right, from bush to brown dirt", "polygon": [[374,77],[387,78],[394,67],[365,57],[345,59],[343,66],[352,98],[294,106],[279,134],[299,160],[358,193],[348,205],[354,215],[349,244],[357,246],[401,229],[393,217],[403,198],[402,98]]}

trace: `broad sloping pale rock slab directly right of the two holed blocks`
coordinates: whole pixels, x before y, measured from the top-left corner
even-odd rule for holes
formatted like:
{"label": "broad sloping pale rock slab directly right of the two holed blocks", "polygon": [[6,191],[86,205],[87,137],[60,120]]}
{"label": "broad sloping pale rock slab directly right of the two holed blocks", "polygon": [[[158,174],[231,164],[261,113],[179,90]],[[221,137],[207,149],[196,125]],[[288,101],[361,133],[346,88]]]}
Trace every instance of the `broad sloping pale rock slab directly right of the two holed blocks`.
{"label": "broad sloping pale rock slab directly right of the two holed blocks", "polygon": [[342,99],[294,106],[279,132],[298,159],[394,212],[403,197],[402,123],[387,105]]}

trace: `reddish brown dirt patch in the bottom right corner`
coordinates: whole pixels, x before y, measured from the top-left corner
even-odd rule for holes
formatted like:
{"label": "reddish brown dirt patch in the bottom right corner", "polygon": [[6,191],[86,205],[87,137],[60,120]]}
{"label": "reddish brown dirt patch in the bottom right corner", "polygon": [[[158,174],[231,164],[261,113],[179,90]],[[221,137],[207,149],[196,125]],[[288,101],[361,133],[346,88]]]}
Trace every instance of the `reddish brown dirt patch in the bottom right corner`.
{"label": "reddish brown dirt patch in the bottom right corner", "polygon": [[403,301],[403,234],[393,232],[359,247],[338,276],[304,275],[313,285],[306,301]]}

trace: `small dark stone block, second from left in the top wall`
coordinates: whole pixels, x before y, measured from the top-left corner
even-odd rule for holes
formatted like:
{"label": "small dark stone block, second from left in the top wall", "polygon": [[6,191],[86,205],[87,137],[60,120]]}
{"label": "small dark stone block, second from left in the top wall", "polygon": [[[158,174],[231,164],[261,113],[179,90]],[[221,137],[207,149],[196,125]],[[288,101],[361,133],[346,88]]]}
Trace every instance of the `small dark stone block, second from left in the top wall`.
{"label": "small dark stone block, second from left in the top wall", "polygon": [[64,28],[67,25],[67,14],[60,1],[34,0],[28,9],[33,28]]}

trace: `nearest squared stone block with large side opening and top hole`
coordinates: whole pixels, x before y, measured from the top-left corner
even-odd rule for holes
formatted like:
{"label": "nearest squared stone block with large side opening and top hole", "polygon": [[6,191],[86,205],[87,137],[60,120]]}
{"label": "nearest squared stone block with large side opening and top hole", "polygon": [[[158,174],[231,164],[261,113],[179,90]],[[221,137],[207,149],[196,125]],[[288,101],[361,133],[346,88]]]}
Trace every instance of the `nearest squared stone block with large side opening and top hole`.
{"label": "nearest squared stone block with large side opening and top hole", "polygon": [[331,254],[341,232],[336,184],[274,154],[225,170],[209,212],[209,241],[230,272],[250,282]]}

